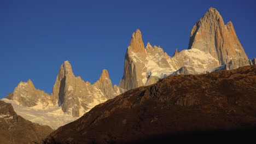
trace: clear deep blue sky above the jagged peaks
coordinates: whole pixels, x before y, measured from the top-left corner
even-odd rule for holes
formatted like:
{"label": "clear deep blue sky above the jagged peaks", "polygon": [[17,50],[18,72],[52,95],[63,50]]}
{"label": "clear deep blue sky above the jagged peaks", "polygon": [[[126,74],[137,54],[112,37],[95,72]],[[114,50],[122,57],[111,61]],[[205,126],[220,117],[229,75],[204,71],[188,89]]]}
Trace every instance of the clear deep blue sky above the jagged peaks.
{"label": "clear deep blue sky above the jagged peaks", "polygon": [[172,56],[188,48],[191,28],[217,8],[232,21],[248,57],[256,57],[254,1],[0,1],[0,98],[20,81],[51,93],[60,65],[94,83],[102,69],[119,84],[131,35]]}

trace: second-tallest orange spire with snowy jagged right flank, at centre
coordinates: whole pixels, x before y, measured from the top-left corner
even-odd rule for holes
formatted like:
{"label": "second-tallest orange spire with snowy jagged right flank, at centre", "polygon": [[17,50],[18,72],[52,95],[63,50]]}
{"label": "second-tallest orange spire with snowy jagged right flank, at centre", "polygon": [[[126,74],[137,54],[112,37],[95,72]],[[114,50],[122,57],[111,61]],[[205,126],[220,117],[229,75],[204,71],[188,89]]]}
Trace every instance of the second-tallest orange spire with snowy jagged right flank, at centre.
{"label": "second-tallest orange spire with snowy jagged right flank, at centre", "polygon": [[124,64],[124,75],[119,87],[126,91],[140,86],[155,83],[151,76],[164,77],[175,70],[170,57],[159,46],[147,43],[144,47],[142,34],[139,29],[132,34],[131,43],[127,48]]}

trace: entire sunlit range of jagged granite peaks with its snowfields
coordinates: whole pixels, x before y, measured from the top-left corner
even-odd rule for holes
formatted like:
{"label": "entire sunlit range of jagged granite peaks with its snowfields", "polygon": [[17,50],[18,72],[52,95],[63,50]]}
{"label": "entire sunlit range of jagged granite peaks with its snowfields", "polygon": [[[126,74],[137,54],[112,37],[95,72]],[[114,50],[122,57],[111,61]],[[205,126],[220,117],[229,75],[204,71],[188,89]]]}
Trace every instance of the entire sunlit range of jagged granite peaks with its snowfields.
{"label": "entire sunlit range of jagged granite peaks with its snowfields", "polygon": [[[176,49],[173,56],[149,42],[145,47],[142,32],[137,29],[125,53],[124,74],[119,86],[112,85],[106,69],[95,83],[85,82],[80,76],[74,76],[71,64],[65,61],[57,74],[53,93],[36,89],[28,80],[20,82],[2,100],[13,104],[18,115],[29,121],[57,129],[98,104],[130,89],[153,85],[170,75],[208,74],[253,64],[255,58],[248,59],[232,22],[225,25],[219,12],[210,8],[191,29],[188,49]],[[181,103],[190,101],[181,100]]]}

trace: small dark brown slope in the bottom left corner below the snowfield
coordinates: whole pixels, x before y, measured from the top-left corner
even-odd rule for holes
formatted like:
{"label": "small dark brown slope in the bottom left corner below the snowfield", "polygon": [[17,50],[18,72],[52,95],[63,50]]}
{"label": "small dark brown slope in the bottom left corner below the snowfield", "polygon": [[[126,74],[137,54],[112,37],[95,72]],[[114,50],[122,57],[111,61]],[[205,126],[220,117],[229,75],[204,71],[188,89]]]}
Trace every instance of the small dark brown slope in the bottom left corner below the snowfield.
{"label": "small dark brown slope in the bottom left corner below the snowfield", "polygon": [[0,143],[39,142],[51,131],[49,126],[32,123],[17,115],[11,104],[0,100]]}

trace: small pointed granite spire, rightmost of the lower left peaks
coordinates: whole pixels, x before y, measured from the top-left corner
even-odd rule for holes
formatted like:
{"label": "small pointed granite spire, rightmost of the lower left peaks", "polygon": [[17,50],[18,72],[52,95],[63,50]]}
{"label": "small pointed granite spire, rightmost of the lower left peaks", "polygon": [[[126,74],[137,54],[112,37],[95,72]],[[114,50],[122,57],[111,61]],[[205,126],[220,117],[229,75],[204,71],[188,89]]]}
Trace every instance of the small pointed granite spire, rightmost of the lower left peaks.
{"label": "small pointed granite spire, rightmost of the lower left peaks", "polygon": [[108,71],[106,69],[102,70],[101,77],[94,83],[94,86],[100,88],[107,99],[112,99],[117,95],[114,92],[112,81],[109,79]]}

